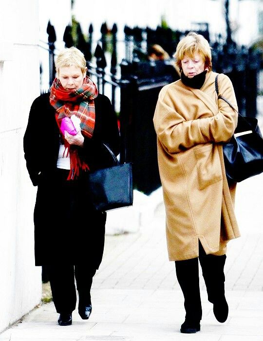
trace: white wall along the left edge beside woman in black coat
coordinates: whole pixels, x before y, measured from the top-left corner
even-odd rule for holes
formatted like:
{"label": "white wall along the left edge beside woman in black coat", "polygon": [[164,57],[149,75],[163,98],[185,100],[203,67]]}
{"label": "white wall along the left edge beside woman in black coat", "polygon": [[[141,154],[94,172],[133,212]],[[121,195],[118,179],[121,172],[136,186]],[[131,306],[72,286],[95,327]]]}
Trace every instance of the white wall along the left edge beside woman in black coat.
{"label": "white wall along the left edge beside woman in black coat", "polygon": [[41,267],[34,259],[36,188],[23,155],[30,106],[39,95],[38,0],[1,1],[0,32],[1,331],[41,300]]}

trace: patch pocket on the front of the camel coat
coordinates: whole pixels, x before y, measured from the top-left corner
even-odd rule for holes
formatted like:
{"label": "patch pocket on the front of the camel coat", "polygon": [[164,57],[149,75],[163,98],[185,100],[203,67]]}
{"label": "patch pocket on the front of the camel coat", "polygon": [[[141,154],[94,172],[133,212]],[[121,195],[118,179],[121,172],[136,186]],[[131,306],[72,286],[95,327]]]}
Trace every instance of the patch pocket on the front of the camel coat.
{"label": "patch pocket on the front of the camel coat", "polygon": [[205,189],[223,179],[218,150],[214,144],[195,148],[199,189]]}

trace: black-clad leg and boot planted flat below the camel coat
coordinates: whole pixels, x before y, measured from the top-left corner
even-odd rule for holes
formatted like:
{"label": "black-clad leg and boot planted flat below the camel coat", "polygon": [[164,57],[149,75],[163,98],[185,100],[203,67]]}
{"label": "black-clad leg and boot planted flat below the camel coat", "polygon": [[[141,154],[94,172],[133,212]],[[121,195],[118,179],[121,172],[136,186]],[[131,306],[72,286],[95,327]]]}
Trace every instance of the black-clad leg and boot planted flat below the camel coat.
{"label": "black-clad leg and boot planted flat below the camel coat", "polygon": [[198,258],[176,261],[176,276],[181,286],[184,299],[186,319],[181,325],[181,333],[196,333],[200,330],[202,305],[199,287]]}

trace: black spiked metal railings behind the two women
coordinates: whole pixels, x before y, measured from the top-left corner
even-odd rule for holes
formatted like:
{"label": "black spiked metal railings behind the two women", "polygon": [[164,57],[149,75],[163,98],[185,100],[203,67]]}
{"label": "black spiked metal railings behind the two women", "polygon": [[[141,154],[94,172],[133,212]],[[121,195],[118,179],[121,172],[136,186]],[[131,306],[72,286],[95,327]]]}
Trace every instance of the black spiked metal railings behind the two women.
{"label": "black spiked metal railings behind the two women", "polygon": [[[50,85],[55,77],[56,33],[48,24]],[[208,26],[202,24],[201,33],[209,41]],[[200,28],[199,27],[199,28]],[[109,30],[101,26],[101,38],[94,52],[93,28],[84,38],[77,26],[75,42],[72,28],[67,26],[64,34],[65,47],[75,45],[87,60],[89,75],[97,83],[100,93],[108,95],[118,116],[121,135],[120,161],[133,163],[134,188],[149,194],[160,186],[157,165],[156,134],[152,117],[160,89],[179,78],[172,54],[180,38],[188,32],[172,31],[157,27],[141,29],[125,27],[125,41],[118,42],[117,26]],[[125,56],[117,63],[117,44],[125,44]],[[150,60],[148,51],[152,44],[159,44],[169,53],[164,61]],[[222,37],[210,42],[212,46],[213,71],[224,73],[232,80],[239,111],[243,115],[257,115],[257,94],[262,84],[262,54],[258,50],[226,44]],[[261,87],[262,91],[262,87]]]}

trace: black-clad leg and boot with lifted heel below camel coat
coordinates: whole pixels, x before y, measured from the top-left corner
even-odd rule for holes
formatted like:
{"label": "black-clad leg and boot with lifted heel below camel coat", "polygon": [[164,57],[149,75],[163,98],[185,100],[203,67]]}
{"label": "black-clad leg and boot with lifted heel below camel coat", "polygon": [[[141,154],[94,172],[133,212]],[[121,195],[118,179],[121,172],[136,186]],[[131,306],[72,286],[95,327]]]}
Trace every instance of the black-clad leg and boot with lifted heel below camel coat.
{"label": "black-clad leg and boot with lifted heel below camel coat", "polygon": [[213,303],[215,318],[221,323],[225,322],[228,316],[228,304],[225,299],[225,259],[225,255],[207,255],[203,246],[199,245],[199,261],[207,287],[208,301]]}

